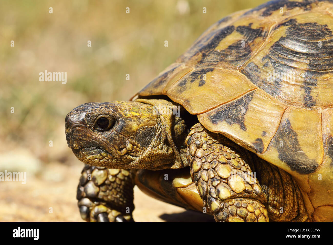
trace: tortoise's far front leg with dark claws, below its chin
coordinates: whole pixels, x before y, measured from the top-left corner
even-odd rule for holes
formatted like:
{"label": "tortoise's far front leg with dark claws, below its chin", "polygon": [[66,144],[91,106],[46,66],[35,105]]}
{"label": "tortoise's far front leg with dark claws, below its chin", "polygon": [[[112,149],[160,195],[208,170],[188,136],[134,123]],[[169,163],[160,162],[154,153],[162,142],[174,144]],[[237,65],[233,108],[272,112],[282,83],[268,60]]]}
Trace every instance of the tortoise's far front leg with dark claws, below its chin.
{"label": "tortoise's far front leg with dark claws, below its chin", "polygon": [[77,199],[82,219],[90,222],[134,221],[134,170],[85,164]]}

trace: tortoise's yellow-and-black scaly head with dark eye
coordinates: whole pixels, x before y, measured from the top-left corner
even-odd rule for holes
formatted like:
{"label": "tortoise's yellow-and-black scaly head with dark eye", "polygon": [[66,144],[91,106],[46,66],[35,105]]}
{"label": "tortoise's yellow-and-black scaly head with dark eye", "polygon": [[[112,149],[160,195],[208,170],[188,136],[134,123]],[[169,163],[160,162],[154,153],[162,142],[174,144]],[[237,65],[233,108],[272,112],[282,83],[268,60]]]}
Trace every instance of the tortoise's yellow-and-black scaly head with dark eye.
{"label": "tortoise's yellow-and-black scaly head with dark eye", "polygon": [[75,156],[107,168],[166,168],[179,155],[170,130],[171,121],[142,102],[86,103],[65,119],[67,143]]}

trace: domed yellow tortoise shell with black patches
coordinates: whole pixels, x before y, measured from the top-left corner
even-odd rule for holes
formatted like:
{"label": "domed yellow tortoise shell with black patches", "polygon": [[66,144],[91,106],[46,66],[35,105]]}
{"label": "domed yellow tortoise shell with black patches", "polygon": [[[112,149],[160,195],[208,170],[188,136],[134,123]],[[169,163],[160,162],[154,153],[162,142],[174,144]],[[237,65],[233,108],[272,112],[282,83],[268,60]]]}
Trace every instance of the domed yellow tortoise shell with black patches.
{"label": "domed yellow tortoise shell with black patches", "polygon": [[208,130],[289,172],[307,208],[324,215],[333,211],[332,30],[332,0],[236,12],[137,97],[166,95]]}

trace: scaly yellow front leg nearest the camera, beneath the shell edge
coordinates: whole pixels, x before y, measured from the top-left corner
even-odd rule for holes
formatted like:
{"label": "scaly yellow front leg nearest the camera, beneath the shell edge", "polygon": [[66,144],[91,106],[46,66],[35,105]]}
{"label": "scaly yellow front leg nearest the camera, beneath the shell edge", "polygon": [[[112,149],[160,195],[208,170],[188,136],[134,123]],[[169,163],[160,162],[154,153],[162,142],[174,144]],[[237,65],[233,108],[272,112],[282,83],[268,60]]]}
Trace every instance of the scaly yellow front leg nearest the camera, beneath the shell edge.
{"label": "scaly yellow front leg nearest the camera, beneath the shell edge", "polygon": [[235,148],[223,141],[232,144],[198,123],[185,142],[192,181],[204,207],[215,221],[268,222],[267,200],[258,180]]}

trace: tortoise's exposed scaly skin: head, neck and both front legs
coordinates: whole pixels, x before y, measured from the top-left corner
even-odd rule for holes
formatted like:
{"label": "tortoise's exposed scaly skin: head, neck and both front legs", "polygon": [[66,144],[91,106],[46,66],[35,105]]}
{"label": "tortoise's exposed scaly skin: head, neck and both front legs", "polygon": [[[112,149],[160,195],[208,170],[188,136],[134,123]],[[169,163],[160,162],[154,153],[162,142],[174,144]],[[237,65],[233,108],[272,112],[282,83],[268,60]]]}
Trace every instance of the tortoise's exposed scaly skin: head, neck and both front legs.
{"label": "tortoise's exposed scaly skin: head, neck and both front legs", "polygon": [[[172,115],[173,106],[145,99],[87,103],[67,115],[68,145],[87,163],[77,195],[84,220],[133,221],[135,169],[186,166],[216,221],[308,220],[299,187],[288,173],[199,123],[189,129]],[[251,178],[255,170],[260,170],[257,179]]]}

